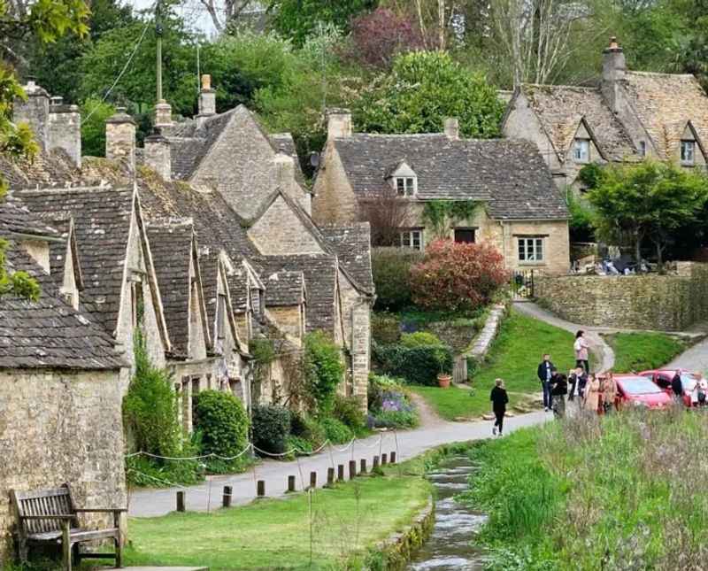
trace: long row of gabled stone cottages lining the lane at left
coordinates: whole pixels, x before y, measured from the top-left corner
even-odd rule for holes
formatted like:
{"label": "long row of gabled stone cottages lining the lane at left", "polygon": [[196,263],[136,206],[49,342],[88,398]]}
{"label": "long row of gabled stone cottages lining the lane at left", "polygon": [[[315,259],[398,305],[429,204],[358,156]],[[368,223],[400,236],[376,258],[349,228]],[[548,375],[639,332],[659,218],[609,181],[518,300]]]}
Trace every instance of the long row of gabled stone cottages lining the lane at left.
{"label": "long row of gabled stone cottages lining the lane at left", "polygon": [[[318,227],[290,135],[267,135],[244,107],[200,114],[136,149],[135,123],[106,123],[106,158],[81,157],[78,110],[26,87],[16,120],[42,151],[0,159],[7,269],[42,286],[39,301],[0,300],[0,560],[14,525],[9,490],[71,482],[86,505],[125,505],[120,403],[135,328],[173,372],[181,420],[191,396],[231,390],[246,406],[285,401],[307,332],[326,331],[348,365],[342,392],[366,406],[373,304],[369,229]],[[249,345],[273,341],[259,367]]]}

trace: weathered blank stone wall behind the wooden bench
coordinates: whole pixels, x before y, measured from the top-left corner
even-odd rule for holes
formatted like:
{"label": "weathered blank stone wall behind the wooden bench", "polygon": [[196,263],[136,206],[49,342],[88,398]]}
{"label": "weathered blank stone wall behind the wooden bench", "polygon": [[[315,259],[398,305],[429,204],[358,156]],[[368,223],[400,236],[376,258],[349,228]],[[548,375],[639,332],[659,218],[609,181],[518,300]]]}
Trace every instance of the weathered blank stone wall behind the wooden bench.
{"label": "weathered blank stone wall behind the wooden bench", "polygon": [[119,376],[0,371],[0,567],[12,555],[12,489],[68,482],[80,506],[126,506]]}

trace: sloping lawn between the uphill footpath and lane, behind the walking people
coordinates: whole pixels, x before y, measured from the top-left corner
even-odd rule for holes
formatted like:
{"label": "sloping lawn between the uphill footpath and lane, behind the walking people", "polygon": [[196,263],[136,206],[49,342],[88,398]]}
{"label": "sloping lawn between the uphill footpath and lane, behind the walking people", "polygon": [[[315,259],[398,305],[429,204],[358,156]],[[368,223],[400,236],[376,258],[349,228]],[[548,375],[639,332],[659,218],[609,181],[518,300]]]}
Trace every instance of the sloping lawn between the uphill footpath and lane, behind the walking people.
{"label": "sloping lawn between the uphill footpath and lane, behind the walking people", "polygon": [[487,362],[474,375],[472,393],[455,387],[412,386],[411,389],[445,419],[476,417],[489,412],[489,391],[496,378],[504,379],[510,405],[524,394],[539,392],[541,382],[536,376],[536,367],[544,352],[550,353],[550,359],[560,371],[570,370],[575,365],[573,340],[569,331],[512,310],[502,323]]}

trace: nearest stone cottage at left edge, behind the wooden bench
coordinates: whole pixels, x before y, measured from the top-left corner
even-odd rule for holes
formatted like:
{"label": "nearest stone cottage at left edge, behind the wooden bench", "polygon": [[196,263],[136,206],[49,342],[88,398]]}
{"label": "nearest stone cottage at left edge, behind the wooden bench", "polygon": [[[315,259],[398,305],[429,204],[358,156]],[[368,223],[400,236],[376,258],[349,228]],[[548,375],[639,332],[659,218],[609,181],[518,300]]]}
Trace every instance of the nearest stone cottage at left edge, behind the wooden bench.
{"label": "nearest stone cottage at left edge, behind the wooden bench", "polygon": [[72,484],[86,507],[125,506],[121,387],[128,362],[96,316],[76,311],[49,273],[65,238],[0,205],[6,269],[41,286],[38,300],[0,297],[0,566],[16,525],[9,491]]}

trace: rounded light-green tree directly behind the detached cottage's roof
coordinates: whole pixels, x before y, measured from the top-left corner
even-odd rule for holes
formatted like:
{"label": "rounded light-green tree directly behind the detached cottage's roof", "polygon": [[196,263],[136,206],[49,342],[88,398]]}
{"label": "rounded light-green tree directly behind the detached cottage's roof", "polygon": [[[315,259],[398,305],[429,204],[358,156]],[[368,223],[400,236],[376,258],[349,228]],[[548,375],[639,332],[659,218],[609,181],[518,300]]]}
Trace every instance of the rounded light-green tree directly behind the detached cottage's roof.
{"label": "rounded light-green tree directly behind the detached cottage's roof", "polygon": [[390,73],[374,81],[354,104],[354,120],[366,133],[435,133],[457,117],[464,136],[499,135],[504,105],[496,89],[443,51],[396,57]]}

